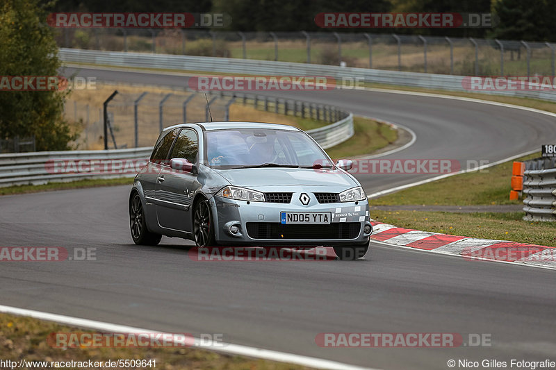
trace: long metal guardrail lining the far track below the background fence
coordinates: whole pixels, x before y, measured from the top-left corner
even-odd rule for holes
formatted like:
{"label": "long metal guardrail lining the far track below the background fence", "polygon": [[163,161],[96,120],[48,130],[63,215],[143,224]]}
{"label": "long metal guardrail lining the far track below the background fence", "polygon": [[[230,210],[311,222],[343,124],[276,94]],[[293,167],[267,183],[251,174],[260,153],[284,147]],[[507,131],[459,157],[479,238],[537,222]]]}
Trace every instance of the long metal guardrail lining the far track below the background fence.
{"label": "long metal guardrail lining the far track below the background fence", "polygon": [[[260,74],[278,76],[329,76],[360,78],[366,83],[381,83],[408,87],[424,87],[438,90],[470,92],[464,85],[464,76],[447,74],[425,74],[416,72],[385,71],[308,63],[274,62],[270,60],[246,60],[234,58],[214,58],[202,56],[177,56],[170,54],[126,53],[120,51],[95,51],[81,49],[60,49],[60,59],[64,62],[111,65],[115,67],[164,68],[177,71],[200,71],[228,74]],[[475,91],[476,92],[476,91]],[[526,97],[546,101],[556,101],[556,91],[546,90],[481,90],[483,94]]]}

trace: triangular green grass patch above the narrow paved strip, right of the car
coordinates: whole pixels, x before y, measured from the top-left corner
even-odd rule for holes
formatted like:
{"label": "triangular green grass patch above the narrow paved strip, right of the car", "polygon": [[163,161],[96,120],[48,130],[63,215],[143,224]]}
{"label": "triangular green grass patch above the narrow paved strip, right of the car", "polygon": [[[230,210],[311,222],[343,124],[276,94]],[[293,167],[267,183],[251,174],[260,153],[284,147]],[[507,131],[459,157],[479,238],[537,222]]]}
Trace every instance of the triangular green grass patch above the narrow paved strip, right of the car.
{"label": "triangular green grass patch above the narrow paved strip, right of the car", "polygon": [[[538,158],[540,153],[518,160]],[[520,204],[510,201],[509,191],[514,161],[409,187],[371,200],[373,205],[497,205]]]}

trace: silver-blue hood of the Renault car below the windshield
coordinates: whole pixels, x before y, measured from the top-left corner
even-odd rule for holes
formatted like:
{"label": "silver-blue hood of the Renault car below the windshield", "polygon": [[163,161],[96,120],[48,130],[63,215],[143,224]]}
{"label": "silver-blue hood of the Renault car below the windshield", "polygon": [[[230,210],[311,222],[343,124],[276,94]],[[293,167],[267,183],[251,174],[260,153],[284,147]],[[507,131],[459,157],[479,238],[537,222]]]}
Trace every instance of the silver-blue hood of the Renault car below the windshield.
{"label": "silver-blue hood of the Renault car below the windshield", "polygon": [[215,171],[228,180],[231,185],[242,187],[310,185],[348,188],[359,185],[350,175],[340,169],[322,171],[295,168],[250,168]]}

